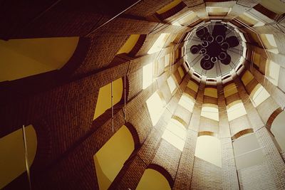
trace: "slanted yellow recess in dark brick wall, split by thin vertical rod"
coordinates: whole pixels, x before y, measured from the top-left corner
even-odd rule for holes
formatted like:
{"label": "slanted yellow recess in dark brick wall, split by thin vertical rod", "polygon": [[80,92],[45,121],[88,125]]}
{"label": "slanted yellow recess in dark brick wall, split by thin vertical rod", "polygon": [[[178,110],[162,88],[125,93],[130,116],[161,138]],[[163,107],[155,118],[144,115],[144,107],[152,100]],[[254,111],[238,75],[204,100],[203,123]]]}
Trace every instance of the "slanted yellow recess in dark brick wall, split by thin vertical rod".
{"label": "slanted yellow recess in dark brick wall, split by thin vertical rod", "polygon": [[[123,95],[123,80],[122,78],[118,78],[117,80],[114,80],[112,83],[113,83],[113,105],[115,105],[118,102],[120,102],[120,99],[122,98]],[[111,83],[101,87],[99,90],[98,100],[96,103],[93,120],[102,115],[105,112],[105,110],[108,110],[110,107],[112,107]]]}

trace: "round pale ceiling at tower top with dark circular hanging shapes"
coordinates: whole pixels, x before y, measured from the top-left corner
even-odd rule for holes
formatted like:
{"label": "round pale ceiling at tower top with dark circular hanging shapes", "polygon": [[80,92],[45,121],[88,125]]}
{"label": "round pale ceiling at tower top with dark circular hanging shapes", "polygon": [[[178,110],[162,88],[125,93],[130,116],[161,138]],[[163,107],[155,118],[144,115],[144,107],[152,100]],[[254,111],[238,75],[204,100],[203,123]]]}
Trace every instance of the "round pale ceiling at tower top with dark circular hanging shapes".
{"label": "round pale ceiling at tower top with dark circular hanging shapes", "polygon": [[233,26],[208,21],[187,37],[186,60],[193,73],[207,78],[227,75],[242,64],[242,33]]}

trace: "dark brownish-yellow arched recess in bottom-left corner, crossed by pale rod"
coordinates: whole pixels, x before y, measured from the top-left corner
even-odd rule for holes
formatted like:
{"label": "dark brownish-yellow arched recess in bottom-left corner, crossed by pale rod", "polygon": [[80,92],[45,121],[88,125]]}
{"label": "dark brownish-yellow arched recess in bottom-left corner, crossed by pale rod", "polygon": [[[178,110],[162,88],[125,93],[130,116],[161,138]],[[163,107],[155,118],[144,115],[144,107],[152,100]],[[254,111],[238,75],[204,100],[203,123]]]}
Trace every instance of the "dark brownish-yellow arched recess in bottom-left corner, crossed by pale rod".
{"label": "dark brownish-yellow arched recess in bottom-left corner, crossed by pale rod", "polygon": [[[32,125],[26,127],[28,163],[31,167],[36,155],[36,131]],[[16,130],[0,139],[0,189],[26,171],[22,130]]]}

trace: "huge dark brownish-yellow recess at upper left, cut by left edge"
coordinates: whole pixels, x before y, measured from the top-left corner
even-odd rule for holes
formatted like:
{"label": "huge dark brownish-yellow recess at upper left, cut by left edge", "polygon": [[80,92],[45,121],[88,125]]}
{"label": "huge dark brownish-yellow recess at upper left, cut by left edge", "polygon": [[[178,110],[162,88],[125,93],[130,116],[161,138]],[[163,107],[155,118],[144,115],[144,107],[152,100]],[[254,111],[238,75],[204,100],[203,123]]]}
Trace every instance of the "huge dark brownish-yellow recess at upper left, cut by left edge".
{"label": "huge dark brownish-yellow recess at upper left, cut by left edge", "polygon": [[0,82],[62,68],[78,41],[78,37],[0,40]]}

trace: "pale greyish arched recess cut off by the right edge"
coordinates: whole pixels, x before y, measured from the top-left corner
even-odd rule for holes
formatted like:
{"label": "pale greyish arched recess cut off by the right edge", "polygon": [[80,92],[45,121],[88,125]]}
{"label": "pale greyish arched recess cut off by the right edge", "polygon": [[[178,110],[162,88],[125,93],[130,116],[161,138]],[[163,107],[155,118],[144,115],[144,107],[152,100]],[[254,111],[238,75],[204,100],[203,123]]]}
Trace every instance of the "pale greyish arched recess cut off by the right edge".
{"label": "pale greyish arched recess cut off by the right edge", "polygon": [[285,151],[285,112],[279,113],[271,125],[271,132],[274,134],[276,141],[278,142],[281,151]]}

